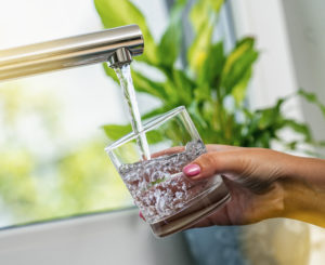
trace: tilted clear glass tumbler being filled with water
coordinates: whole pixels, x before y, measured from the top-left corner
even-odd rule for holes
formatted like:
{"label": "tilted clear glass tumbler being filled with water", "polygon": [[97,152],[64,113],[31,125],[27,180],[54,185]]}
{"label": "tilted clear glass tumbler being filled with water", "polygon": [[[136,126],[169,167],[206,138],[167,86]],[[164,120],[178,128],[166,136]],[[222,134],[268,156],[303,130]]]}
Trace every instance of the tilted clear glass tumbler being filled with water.
{"label": "tilted clear glass tumbler being filled with water", "polygon": [[[105,150],[157,237],[191,227],[230,199],[220,175],[194,182],[182,173],[183,167],[206,153],[184,107],[158,116],[143,128]],[[136,144],[144,133],[151,153],[146,160]]]}

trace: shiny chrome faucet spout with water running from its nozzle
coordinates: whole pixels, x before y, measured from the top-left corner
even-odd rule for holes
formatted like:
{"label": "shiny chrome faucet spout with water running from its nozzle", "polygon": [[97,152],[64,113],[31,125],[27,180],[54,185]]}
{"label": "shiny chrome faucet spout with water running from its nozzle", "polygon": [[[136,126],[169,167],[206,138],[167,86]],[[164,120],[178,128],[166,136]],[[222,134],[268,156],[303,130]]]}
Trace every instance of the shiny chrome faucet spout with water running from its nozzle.
{"label": "shiny chrome faucet spout with water running from its nozzle", "polygon": [[130,25],[2,50],[0,81],[102,62],[121,67],[141,55],[143,48],[140,28]]}

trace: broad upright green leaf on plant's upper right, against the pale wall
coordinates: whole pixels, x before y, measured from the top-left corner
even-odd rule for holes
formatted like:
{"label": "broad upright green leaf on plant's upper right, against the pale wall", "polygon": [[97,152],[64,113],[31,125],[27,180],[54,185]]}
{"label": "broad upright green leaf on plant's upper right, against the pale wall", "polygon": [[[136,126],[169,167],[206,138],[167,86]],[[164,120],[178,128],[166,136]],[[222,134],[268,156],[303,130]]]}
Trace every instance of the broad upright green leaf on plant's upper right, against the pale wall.
{"label": "broad upright green leaf on plant's upper right, against the pale wall", "polygon": [[221,74],[223,96],[232,93],[232,90],[239,83],[242,83],[242,90],[246,89],[243,83],[247,83],[247,76],[250,75],[252,64],[258,58],[258,52],[255,50],[253,44],[255,40],[252,38],[245,38],[237,43],[227,56]]}

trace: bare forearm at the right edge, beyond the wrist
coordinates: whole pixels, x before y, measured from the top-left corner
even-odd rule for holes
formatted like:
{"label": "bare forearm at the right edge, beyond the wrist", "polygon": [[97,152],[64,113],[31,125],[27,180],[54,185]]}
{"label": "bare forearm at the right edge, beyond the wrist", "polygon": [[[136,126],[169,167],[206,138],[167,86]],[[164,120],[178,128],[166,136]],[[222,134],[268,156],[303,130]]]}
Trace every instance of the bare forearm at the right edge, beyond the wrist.
{"label": "bare forearm at the right edge, beyond the wrist", "polygon": [[325,227],[325,160],[292,157],[281,182],[286,190],[284,216]]}

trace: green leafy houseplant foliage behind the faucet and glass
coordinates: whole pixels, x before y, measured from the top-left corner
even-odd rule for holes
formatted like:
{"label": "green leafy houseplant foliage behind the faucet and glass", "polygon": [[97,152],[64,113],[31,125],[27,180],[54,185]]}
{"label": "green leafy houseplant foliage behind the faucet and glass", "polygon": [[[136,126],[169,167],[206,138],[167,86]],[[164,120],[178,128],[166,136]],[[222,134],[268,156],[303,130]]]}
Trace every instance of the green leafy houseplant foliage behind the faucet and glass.
{"label": "green leafy houseplant foliage behind the faucet and glass", "polygon": [[[296,95],[306,97],[324,111],[324,106],[315,95],[299,91],[292,96],[280,98],[268,108],[251,110],[248,107],[247,87],[259,53],[255,49],[253,38],[237,41],[229,53],[225,53],[222,40],[216,41],[214,32],[223,2],[197,0],[191,6],[185,18],[192,25],[194,38],[186,48],[183,43],[185,32],[182,19],[187,1],[174,1],[169,25],[156,42],[144,15],[131,1],[94,0],[105,27],[128,24],[141,27],[145,41],[144,55],[134,59],[155,68],[165,77],[165,81],[156,81],[146,72],[133,68],[135,90],[160,101],[160,107],[144,114],[142,118],[152,118],[184,105],[205,143],[269,148],[273,141],[277,141],[288,149],[297,149],[299,144],[321,145],[313,140],[306,123],[284,115],[285,103]],[[186,62],[180,66],[182,50],[186,50]],[[107,76],[117,81],[114,71],[106,65],[104,68]],[[108,137],[116,140],[129,128],[107,124],[104,130]],[[281,137],[284,129],[295,131],[298,140],[286,141]]]}

